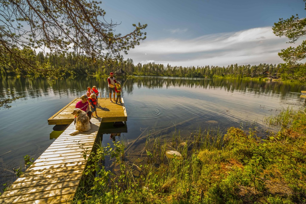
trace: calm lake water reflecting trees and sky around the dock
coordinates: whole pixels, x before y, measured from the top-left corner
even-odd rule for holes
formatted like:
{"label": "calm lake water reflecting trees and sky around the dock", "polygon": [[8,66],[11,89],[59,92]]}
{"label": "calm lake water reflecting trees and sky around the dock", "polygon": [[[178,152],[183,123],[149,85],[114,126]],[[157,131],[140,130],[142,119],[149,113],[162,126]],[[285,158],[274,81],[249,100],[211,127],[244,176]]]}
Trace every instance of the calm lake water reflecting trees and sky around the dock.
{"label": "calm lake water reflecting trees and sky around the dock", "polygon": [[[23,156],[36,159],[54,141],[50,139],[53,125],[48,125],[48,118],[74,98],[86,94],[88,86],[97,86],[105,96],[106,80],[70,76],[52,83],[42,77],[0,77],[0,92],[10,88],[17,95],[24,95],[11,108],[0,109],[0,172],[7,169],[0,174],[0,183],[13,180],[12,169],[22,165]],[[306,87],[295,83],[174,77],[117,80],[124,84],[122,97],[128,131],[121,133],[120,139],[127,143],[144,131],[147,134],[176,124],[164,134],[172,134],[174,128],[181,131],[181,136],[190,135],[199,127],[265,128],[264,117],[288,106],[305,106],[300,91]],[[103,135],[103,143],[111,141],[109,134]]]}

